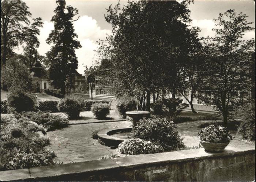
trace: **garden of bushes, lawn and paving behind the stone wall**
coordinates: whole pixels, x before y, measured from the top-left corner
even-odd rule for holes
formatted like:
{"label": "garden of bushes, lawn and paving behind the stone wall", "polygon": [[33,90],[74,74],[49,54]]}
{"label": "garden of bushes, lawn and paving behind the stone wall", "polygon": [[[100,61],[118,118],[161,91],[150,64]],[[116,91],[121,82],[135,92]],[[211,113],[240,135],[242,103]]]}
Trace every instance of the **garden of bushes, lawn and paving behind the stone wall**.
{"label": "garden of bushes, lawn and paving behind the stone wall", "polygon": [[[159,100],[161,107],[151,104],[150,118],[142,118],[133,126],[125,112],[136,111],[136,103],[127,100],[91,101],[67,96],[42,101],[22,89],[11,90],[7,100],[1,100],[1,170],[197,149],[202,148],[201,141],[231,141],[230,146],[242,149],[255,145],[251,142],[255,138],[252,108],[244,108],[239,115],[242,121],[225,125],[216,116],[212,120],[213,115],[188,117],[174,99]],[[178,104],[180,110],[173,112],[168,104]],[[107,117],[110,112],[112,120]],[[118,146],[97,141],[99,131],[118,127],[133,127]]]}

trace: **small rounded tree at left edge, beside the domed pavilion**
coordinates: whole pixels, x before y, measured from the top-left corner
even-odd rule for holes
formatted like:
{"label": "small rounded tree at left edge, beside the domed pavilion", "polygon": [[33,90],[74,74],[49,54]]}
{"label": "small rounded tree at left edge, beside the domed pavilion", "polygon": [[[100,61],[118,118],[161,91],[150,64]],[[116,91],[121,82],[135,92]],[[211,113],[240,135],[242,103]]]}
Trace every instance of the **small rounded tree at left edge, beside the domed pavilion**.
{"label": "small rounded tree at left edge, beside the domed pavilion", "polygon": [[3,68],[2,78],[9,87],[18,87],[26,91],[33,90],[29,69],[18,56],[11,57]]}

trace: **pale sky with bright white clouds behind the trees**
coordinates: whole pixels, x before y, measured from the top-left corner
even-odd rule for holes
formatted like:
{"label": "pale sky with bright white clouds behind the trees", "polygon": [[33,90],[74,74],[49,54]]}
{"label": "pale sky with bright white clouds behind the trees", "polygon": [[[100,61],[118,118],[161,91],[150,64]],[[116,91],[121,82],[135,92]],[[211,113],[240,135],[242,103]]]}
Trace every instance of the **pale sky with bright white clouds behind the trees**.
{"label": "pale sky with bright white clouds behind the trees", "polygon": [[[50,50],[45,40],[48,38],[50,31],[54,28],[51,18],[56,8],[55,0],[23,0],[29,7],[32,18],[41,17],[44,25],[40,29],[38,36],[40,46],[38,52],[45,55]],[[94,55],[97,49],[96,41],[105,39],[106,34],[111,33],[111,25],[105,21],[104,14],[106,8],[111,4],[114,6],[118,3],[116,0],[66,0],[66,5],[77,8],[79,14],[74,17],[79,19],[74,22],[75,33],[82,48],[76,50],[78,57],[78,72],[84,73],[84,66],[91,66],[94,62]],[[121,7],[127,4],[127,0],[120,0]],[[251,25],[255,28],[255,2],[251,0],[195,0],[188,7],[191,11],[192,26],[199,27],[202,31],[199,36],[214,36],[212,28],[214,28],[214,19],[217,19],[219,13],[224,13],[228,9],[235,9],[235,12],[243,12],[248,16],[247,21],[253,22]],[[255,38],[255,30],[245,32],[244,39]],[[22,53],[19,47],[15,52]]]}

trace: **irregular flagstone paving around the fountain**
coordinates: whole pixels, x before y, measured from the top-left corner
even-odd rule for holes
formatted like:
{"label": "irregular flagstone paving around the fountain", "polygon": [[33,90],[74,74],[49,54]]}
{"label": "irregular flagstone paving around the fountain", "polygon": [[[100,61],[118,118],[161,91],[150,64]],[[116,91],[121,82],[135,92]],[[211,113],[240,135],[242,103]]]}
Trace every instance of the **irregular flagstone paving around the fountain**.
{"label": "irregular flagstone paving around the fountain", "polygon": [[[197,132],[201,130],[198,126],[202,122],[211,121],[192,121],[178,123],[177,129],[184,138],[185,145],[188,147],[198,146]],[[103,146],[97,140],[91,138],[91,132],[103,128],[130,127],[131,122],[106,122],[69,125],[61,130],[47,132],[50,137],[49,146],[57,154],[57,159],[63,163],[82,162],[97,160],[102,155],[117,154],[117,149]],[[229,146],[242,149],[255,149],[255,143],[245,143],[233,139]]]}

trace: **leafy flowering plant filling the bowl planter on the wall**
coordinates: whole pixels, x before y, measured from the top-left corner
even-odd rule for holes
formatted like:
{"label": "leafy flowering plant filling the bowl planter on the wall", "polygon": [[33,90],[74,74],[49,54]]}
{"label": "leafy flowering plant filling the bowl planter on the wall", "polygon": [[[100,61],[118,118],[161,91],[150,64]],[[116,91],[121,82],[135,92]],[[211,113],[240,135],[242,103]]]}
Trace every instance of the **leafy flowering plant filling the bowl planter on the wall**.
{"label": "leafy flowering plant filling the bowl planter on the wall", "polygon": [[220,125],[214,126],[211,124],[199,131],[197,135],[200,140],[210,143],[226,143],[232,140],[232,136],[230,135],[229,130],[227,130],[227,127]]}

